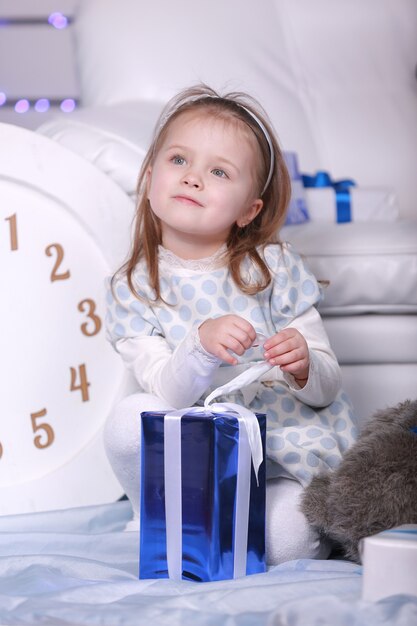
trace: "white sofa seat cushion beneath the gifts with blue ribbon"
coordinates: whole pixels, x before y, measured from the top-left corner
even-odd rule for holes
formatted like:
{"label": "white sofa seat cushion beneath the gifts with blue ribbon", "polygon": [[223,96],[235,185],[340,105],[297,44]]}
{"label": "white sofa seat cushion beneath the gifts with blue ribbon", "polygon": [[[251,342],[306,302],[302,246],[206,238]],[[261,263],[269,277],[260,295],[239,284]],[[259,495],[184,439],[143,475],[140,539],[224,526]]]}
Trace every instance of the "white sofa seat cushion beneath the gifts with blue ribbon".
{"label": "white sofa seat cushion beneath the gifts with blue ribbon", "polygon": [[281,238],[329,281],[323,315],[417,312],[417,220],[308,222],[285,226]]}

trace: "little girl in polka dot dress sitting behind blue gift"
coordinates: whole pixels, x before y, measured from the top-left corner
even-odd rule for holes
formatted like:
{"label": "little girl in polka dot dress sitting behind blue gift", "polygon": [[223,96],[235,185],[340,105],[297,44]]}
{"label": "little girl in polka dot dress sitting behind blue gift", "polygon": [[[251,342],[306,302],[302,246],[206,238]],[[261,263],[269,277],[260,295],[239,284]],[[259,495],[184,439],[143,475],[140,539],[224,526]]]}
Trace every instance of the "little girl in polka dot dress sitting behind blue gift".
{"label": "little girl in polka dot dress sitting behind blue gift", "polygon": [[105,446],[138,527],[140,413],[201,405],[253,363],[261,380],[217,398],[267,415],[268,564],[325,558],[299,510],[356,427],[316,310],[320,288],[278,232],[290,182],[259,105],[200,85],[168,103],[143,162],[130,256],[108,291],[110,341],[140,393],[109,417]]}

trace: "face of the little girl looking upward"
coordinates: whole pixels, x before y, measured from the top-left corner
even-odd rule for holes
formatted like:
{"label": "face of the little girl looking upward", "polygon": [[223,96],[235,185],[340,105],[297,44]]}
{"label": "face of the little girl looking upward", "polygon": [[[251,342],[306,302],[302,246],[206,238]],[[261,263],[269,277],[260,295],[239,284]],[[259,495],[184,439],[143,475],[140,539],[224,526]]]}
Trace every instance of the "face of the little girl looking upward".
{"label": "face of the little girl looking upward", "polygon": [[148,171],[164,247],[182,258],[209,256],[234,223],[251,222],[262,208],[256,156],[256,139],[243,123],[198,111],[175,119]]}

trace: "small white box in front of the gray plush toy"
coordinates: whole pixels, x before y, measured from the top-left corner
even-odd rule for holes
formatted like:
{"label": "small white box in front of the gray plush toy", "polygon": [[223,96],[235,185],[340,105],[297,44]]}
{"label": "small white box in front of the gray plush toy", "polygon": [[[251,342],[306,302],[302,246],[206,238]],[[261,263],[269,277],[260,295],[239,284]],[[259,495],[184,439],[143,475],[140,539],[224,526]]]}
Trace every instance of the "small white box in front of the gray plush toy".
{"label": "small white box in front of the gray plush toy", "polygon": [[363,600],[417,596],[417,524],[404,524],[364,539],[362,563]]}

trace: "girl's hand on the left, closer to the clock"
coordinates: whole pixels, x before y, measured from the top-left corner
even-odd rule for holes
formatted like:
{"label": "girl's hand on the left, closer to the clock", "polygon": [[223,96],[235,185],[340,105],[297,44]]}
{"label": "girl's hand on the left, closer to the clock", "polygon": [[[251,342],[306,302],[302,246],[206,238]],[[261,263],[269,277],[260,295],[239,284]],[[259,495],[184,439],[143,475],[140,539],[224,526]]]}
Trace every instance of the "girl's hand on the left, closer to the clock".
{"label": "girl's hand on the left, closer to the clock", "polygon": [[203,348],[230,365],[236,365],[237,359],[228,350],[242,356],[256,338],[252,324],[239,315],[208,319],[201,324],[198,332]]}

